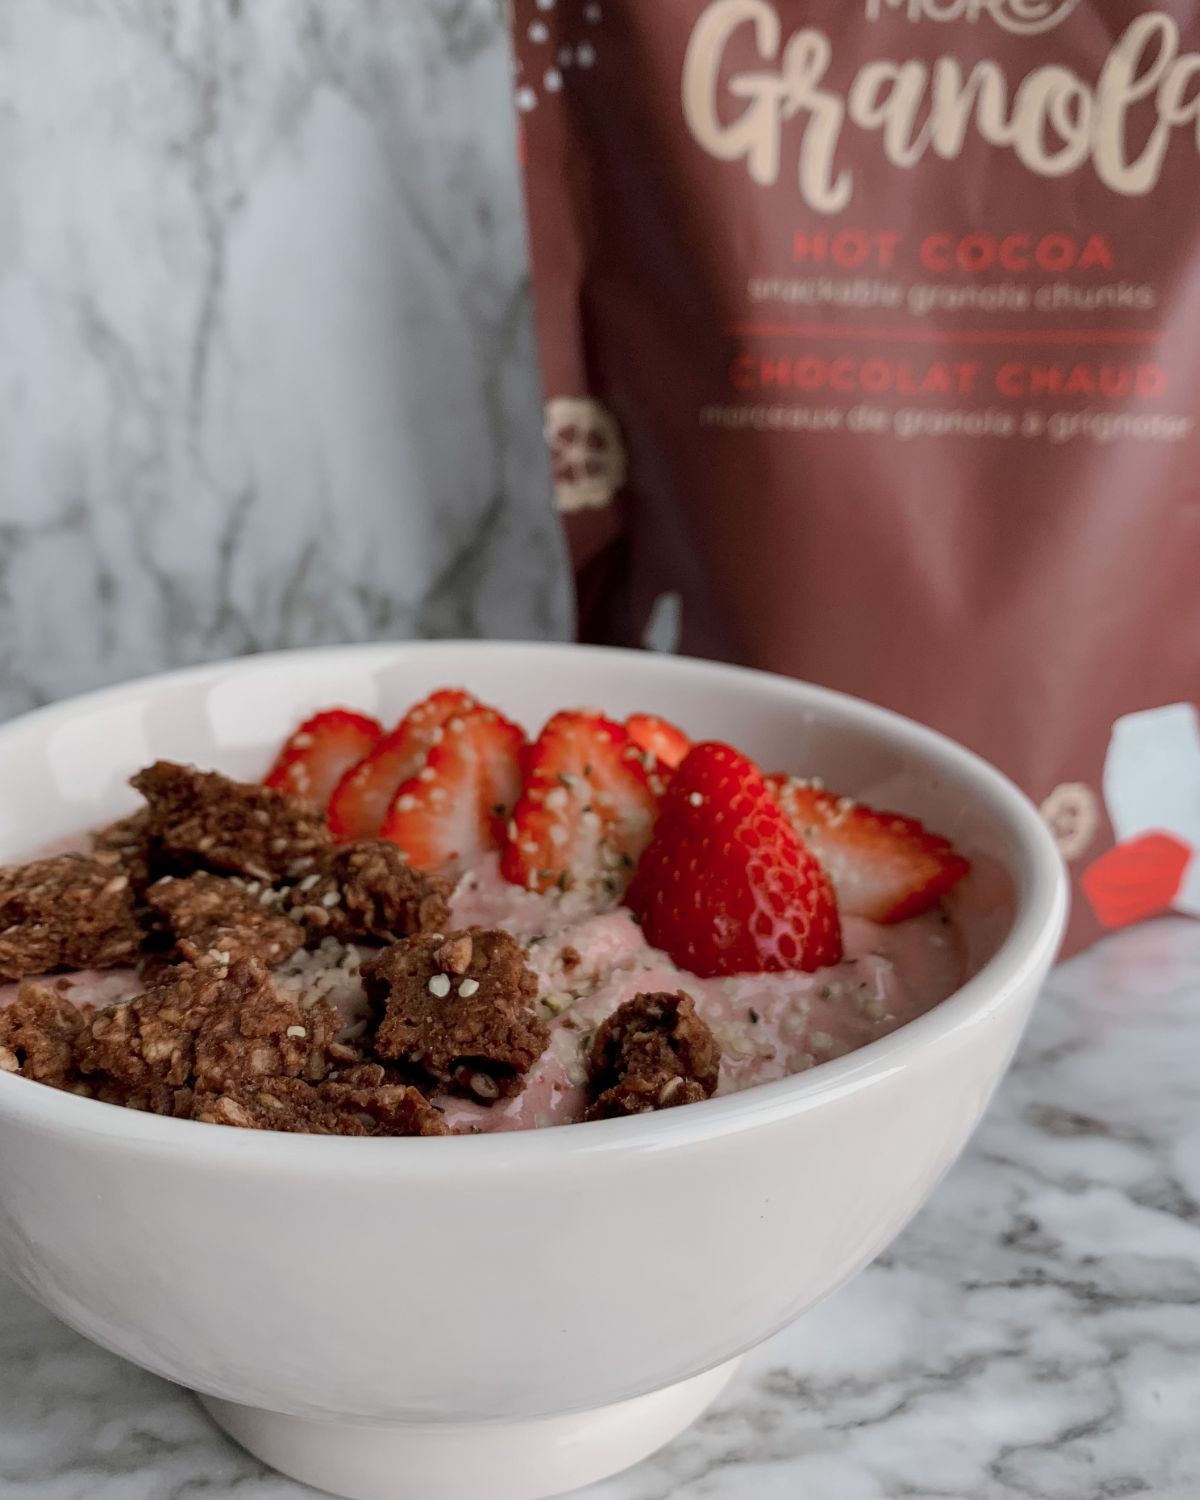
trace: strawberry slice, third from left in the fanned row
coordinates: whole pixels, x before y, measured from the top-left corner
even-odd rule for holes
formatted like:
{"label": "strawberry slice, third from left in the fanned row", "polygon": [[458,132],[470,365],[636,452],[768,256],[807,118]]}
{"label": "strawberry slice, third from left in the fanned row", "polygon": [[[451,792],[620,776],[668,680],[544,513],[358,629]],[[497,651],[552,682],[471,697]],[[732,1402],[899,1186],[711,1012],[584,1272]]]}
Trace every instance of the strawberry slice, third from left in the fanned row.
{"label": "strawberry slice, third from left in the fanned row", "polygon": [[525,732],[495,708],[452,716],[424,765],[404,782],[380,830],[416,870],[476,861],[500,842],[520,792]]}

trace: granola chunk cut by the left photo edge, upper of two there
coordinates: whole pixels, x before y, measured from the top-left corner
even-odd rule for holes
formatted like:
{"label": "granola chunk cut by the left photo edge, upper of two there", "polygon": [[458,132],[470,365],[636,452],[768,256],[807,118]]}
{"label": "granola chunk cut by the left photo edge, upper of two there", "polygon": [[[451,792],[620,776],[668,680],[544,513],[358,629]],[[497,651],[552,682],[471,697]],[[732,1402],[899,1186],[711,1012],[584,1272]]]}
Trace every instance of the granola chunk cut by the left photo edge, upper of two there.
{"label": "granola chunk cut by the left photo edge, upper of two there", "polygon": [[0,980],[130,963],[142,940],[129,876],[63,854],[0,870]]}

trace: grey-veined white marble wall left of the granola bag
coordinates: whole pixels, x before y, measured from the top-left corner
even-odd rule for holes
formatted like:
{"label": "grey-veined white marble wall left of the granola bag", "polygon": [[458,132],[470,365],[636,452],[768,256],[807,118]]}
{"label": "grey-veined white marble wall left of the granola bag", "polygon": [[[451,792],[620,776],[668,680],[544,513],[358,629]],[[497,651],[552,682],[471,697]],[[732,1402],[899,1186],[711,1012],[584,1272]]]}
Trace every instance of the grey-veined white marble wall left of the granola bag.
{"label": "grey-veined white marble wall left of the granola bag", "polygon": [[500,0],[0,0],[0,716],[555,636]]}

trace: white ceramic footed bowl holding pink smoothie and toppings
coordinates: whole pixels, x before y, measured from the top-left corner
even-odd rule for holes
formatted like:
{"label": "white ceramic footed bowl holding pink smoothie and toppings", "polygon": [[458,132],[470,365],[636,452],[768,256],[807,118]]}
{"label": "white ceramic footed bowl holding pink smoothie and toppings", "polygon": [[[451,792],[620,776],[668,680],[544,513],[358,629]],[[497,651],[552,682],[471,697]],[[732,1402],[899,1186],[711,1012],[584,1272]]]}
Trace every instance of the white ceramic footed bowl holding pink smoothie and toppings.
{"label": "white ceramic footed bowl holding pink smoothie and toppings", "polygon": [[[652,710],[924,818],[1011,914],[945,1004],[800,1077],[663,1114],[444,1140],[159,1119],[0,1076],[0,1257],[64,1322],[357,1500],[556,1492],[634,1461],[852,1276],[950,1167],[1065,912],[1032,806],[957,746],[800,682],[578,646],[256,657],[0,728],[0,858],[117,816],[164,756],[256,777],[306,712],[465,684],[528,726]],[[994,914],[993,914],[994,915]],[[994,926],[994,924],[993,924]]]}

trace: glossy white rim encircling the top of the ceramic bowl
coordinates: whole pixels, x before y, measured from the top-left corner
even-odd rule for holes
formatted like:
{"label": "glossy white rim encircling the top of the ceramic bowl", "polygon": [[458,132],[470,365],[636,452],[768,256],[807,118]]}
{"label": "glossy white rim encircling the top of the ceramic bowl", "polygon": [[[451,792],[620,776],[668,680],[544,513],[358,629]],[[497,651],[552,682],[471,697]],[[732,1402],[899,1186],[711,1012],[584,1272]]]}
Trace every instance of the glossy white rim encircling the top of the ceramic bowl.
{"label": "glossy white rim encircling the top of the ceramic bowl", "polygon": [[[776,1124],[814,1108],[831,1096],[856,1092],[879,1077],[902,1070],[918,1050],[934,1047],[964,1028],[986,1022],[1008,1000],[1038,984],[1053,963],[1066,922],[1066,872],[1038,810],[1006,776],[972,750],[902,714],[834,688],[754,668],[566,642],[453,639],[302,646],[152,674],[33,710],[0,724],[0,754],[12,734],[33,726],[51,729],[81,710],[116,706],[122,700],[172,687],[224,681],[242,672],[270,669],[272,664],[294,669],[306,660],[328,664],[330,658],[342,657],[346,663],[363,668],[372,663],[388,664],[402,656],[436,658],[453,651],[478,652],[483,658],[513,654],[561,658],[585,652],[597,662],[638,662],[640,670],[704,680],[714,690],[722,682],[752,682],[766,694],[792,698],[798,706],[818,712],[836,711],[838,718],[879,732],[926,762],[948,765],[1002,819],[1014,838],[1018,862],[1010,872],[1017,885],[1012,927],[992,958],[966,984],[886,1036],[807,1072],[790,1074],[687,1108],[483,1136],[362,1138],[216,1130],[200,1120],[147,1114],[48,1089],[15,1074],[0,1074],[0,1118],[20,1120],[39,1132],[110,1140],[142,1152],[172,1152],[182,1162],[186,1160],[244,1170],[270,1166],[276,1172],[327,1167],[336,1168],[342,1176],[358,1172],[375,1174],[381,1170],[423,1176],[468,1170],[468,1166],[494,1173],[531,1168],[540,1162],[560,1166],[564,1154],[594,1156],[664,1150]],[[651,668],[650,663],[657,666]]]}

